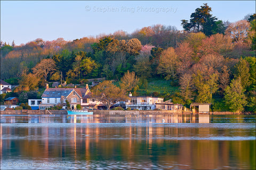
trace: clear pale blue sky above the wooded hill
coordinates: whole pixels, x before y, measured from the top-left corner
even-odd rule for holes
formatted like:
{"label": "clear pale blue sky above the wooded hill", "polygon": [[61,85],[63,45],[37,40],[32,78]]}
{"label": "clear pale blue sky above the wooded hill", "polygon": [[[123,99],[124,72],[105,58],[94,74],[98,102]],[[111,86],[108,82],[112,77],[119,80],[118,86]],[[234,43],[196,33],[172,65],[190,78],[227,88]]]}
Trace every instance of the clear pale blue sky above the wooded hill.
{"label": "clear pale blue sky above the wooded hill", "polygon": [[37,38],[70,41],[154,24],[183,30],[181,20],[190,20],[204,3],[222,21],[255,13],[255,1],[1,1],[1,40],[16,45]]}

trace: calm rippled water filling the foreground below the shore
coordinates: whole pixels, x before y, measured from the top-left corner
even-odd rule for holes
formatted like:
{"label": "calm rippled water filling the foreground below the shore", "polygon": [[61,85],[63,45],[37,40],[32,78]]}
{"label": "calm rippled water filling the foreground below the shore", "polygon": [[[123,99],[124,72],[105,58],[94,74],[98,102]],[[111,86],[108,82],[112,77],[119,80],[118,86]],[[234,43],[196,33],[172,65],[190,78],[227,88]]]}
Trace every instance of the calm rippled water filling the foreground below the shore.
{"label": "calm rippled water filling the foreground below the shore", "polygon": [[255,115],[1,115],[1,169],[255,169],[255,122]]}

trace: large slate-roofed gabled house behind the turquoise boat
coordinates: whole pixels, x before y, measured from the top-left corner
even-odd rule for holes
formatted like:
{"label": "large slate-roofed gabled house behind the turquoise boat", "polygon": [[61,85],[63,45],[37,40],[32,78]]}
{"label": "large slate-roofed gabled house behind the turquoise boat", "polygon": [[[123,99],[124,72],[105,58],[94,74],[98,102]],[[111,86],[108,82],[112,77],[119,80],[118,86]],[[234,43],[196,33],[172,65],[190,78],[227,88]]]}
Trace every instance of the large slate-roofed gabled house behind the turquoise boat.
{"label": "large slate-roofed gabled house behind the turquoise boat", "polygon": [[81,98],[89,90],[86,84],[86,89],[82,88],[47,88],[42,95],[42,103],[39,104],[40,109],[50,108],[58,104],[66,105],[66,100],[70,104],[71,109],[76,109],[80,104]]}

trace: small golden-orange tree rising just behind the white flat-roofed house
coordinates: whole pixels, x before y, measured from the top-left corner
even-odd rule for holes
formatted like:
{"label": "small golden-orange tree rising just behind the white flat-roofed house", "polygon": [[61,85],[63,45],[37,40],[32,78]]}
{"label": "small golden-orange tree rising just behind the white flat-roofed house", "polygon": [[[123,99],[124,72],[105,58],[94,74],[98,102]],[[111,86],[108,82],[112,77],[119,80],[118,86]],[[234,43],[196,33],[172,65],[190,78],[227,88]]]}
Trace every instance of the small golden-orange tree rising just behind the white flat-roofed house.
{"label": "small golden-orange tree rising just behind the white flat-roofed house", "polygon": [[131,72],[128,70],[124,76],[121,78],[120,87],[125,91],[131,91],[135,86],[137,86],[139,82],[139,78],[135,75],[135,72]]}

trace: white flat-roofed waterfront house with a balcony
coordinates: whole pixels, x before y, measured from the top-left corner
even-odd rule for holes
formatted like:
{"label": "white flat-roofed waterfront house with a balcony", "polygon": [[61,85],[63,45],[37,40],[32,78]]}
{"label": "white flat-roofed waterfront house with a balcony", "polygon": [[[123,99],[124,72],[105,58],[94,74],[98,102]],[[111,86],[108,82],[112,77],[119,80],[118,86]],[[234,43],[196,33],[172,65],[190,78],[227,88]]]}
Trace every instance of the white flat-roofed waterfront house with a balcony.
{"label": "white flat-roofed waterfront house with a balcony", "polygon": [[162,104],[164,101],[161,97],[150,97],[150,96],[132,96],[129,94],[129,100],[125,103],[126,108],[139,110],[154,110],[156,104]]}

